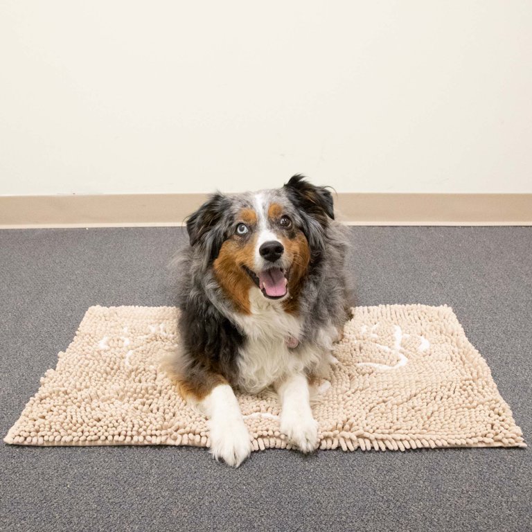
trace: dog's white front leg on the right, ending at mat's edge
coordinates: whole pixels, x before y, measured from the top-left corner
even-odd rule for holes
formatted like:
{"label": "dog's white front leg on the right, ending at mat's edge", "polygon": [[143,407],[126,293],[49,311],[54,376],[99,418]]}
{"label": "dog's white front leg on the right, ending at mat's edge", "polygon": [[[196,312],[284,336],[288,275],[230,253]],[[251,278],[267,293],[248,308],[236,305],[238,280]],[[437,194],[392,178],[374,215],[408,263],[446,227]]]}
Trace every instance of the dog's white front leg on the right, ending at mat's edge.
{"label": "dog's white front leg on the right, ending at mat's edge", "polygon": [[281,432],[301,452],[313,451],[318,445],[318,423],[312,417],[307,378],[292,375],[275,388],[281,398]]}

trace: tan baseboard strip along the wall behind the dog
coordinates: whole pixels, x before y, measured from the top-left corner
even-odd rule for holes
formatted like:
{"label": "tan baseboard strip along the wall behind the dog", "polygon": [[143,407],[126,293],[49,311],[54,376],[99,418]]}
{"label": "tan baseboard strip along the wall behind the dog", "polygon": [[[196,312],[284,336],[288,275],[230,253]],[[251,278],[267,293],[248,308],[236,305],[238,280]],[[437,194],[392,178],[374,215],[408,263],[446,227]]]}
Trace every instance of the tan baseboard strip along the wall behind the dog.
{"label": "tan baseboard strip along the wall behind the dog", "polygon": [[[179,226],[205,194],[0,196],[0,229]],[[351,225],[532,225],[532,194],[339,193]]]}

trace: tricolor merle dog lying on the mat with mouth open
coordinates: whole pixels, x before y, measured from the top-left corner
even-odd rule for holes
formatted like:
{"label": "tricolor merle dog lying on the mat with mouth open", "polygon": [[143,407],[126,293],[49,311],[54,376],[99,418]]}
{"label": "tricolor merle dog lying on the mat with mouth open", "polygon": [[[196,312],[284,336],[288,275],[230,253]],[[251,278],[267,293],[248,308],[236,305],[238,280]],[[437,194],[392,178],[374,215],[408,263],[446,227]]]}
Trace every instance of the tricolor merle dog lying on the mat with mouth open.
{"label": "tricolor merle dog lying on the mat with mouth open", "polygon": [[301,175],[278,189],[216,193],[186,229],[174,274],[181,341],[167,369],[207,416],[211,453],[238,467],[251,452],[235,389],[277,393],[281,432],[311,452],[309,383],[328,372],[351,297],[331,193]]}

